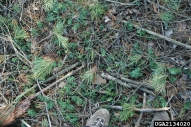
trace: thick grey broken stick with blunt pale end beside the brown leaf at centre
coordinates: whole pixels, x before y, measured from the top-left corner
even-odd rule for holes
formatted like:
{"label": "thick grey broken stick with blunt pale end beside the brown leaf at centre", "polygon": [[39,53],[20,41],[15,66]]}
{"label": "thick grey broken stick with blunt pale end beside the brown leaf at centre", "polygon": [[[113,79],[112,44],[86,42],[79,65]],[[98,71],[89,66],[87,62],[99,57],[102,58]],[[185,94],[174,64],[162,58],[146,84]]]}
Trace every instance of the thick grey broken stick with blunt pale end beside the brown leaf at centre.
{"label": "thick grey broken stick with blunt pale end beside the brown leaf at centre", "polygon": [[119,83],[120,85],[123,85],[123,86],[125,86],[125,87],[128,87],[128,88],[138,88],[139,90],[142,90],[142,91],[144,91],[145,93],[149,93],[149,94],[152,94],[152,95],[155,96],[155,94],[154,94],[152,91],[150,91],[150,90],[148,90],[148,89],[146,89],[146,88],[143,88],[142,86],[139,88],[139,86],[137,86],[137,85],[135,85],[135,84],[132,84],[132,83],[128,83],[128,84],[127,84],[127,83],[124,83],[124,82],[122,82],[121,80],[119,80],[119,79],[117,79],[117,78],[115,78],[115,77],[113,77],[113,76],[111,76],[111,75],[109,75],[109,74],[106,74],[106,73],[102,73],[101,76],[102,76],[103,78],[108,79],[108,80],[116,81],[117,83]]}

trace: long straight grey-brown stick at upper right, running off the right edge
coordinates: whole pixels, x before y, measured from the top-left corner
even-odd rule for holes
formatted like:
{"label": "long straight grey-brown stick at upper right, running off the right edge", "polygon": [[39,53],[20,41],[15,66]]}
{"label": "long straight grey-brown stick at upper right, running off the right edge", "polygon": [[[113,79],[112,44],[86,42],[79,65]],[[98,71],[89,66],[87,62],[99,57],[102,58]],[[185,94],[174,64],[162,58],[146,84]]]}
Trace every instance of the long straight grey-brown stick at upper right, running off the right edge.
{"label": "long straight grey-brown stick at upper right, running off the right edge", "polygon": [[[127,21],[125,21],[125,20],[123,20],[123,22],[124,22],[124,23],[127,23]],[[190,45],[183,44],[183,43],[181,43],[181,42],[179,42],[179,41],[176,41],[176,40],[171,39],[171,38],[169,38],[169,37],[166,37],[166,36],[164,36],[164,35],[155,33],[155,32],[153,32],[153,31],[150,31],[150,30],[147,30],[147,29],[144,29],[144,28],[141,28],[141,27],[139,27],[138,25],[135,25],[135,24],[134,24],[133,26],[134,26],[136,29],[143,30],[143,31],[147,32],[148,34],[157,36],[157,37],[159,37],[159,38],[161,38],[161,39],[164,39],[164,40],[166,40],[166,41],[168,41],[168,42],[172,42],[172,43],[174,43],[174,44],[176,44],[176,45],[179,45],[179,46],[182,46],[182,47],[184,47],[184,48],[186,48],[186,49],[191,49],[191,46],[190,46]]]}

